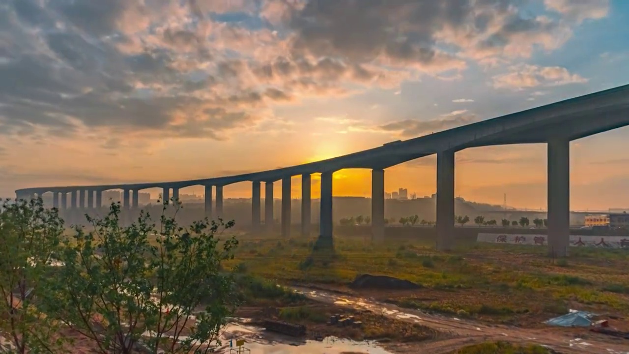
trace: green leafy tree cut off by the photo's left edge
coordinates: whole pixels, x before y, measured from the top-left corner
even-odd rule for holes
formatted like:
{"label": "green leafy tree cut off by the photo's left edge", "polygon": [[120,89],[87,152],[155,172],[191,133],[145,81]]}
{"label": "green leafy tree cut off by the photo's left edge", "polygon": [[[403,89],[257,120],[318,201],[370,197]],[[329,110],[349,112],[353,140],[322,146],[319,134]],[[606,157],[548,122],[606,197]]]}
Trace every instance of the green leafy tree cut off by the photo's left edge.
{"label": "green leafy tree cut off by the photo's left edge", "polygon": [[[64,222],[57,209],[43,208],[42,198],[4,200],[0,208],[0,333],[12,353],[61,349],[53,340],[58,324],[39,311],[37,295],[51,275]],[[0,352],[9,348],[0,345]]]}

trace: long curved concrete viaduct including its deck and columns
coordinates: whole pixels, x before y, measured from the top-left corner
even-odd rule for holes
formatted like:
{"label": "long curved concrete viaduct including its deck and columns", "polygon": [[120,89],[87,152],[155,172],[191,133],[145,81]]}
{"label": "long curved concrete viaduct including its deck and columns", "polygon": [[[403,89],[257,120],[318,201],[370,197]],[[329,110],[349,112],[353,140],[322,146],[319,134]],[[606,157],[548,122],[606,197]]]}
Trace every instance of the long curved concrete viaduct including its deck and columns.
{"label": "long curved concrete viaduct including its deck and columns", "polygon": [[[273,183],[282,180],[281,229],[288,236],[291,226],[291,177],[302,178],[302,233],[309,234],[310,176],[321,173],[320,240],[332,239],[332,174],[340,169],[372,169],[372,232],[374,239],[384,238],[384,169],[412,159],[437,154],[437,248],[453,246],[454,234],[454,155],[468,147],[506,144],[539,144],[548,146],[548,252],[566,256],[570,231],[569,143],[593,134],[629,125],[629,84],[587,94],[570,100],[520,111],[503,117],[445,130],[431,135],[385,144],[381,147],[334,157],[315,163],[272,169],[257,173],[239,174],[189,181],[165,181],[126,185],[53,186],[16,190],[17,198],[34,198],[53,193],[53,206],[67,209],[101,207],[102,192],[123,190],[123,208],[138,208],[138,191],[163,188],[165,200],[177,198],[179,188],[205,186],[205,210],[212,217],[212,191],[216,189],[215,212],[223,213],[223,186],[242,181],[252,182],[253,229],[261,227],[260,186],[265,183],[265,224],[273,223]],[[79,205],[77,207],[77,193]],[[96,204],[94,205],[94,195]],[[131,195],[132,205],[130,204]]]}

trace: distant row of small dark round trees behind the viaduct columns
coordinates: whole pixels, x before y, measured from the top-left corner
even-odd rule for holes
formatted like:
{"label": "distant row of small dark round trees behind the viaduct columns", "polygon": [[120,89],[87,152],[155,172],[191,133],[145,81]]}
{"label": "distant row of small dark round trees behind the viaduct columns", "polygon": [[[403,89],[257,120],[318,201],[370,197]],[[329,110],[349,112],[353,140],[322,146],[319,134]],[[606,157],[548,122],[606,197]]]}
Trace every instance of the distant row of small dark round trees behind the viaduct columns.
{"label": "distant row of small dark round trees behind the viaduct columns", "polygon": [[[467,215],[457,215],[455,217],[455,223],[459,226],[465,226],[465,224],[469,223],[470,217]],[[496,219],[490,219],[490,220],[486,220],[484,216],[479,215],[477,217],[474,217],[474,224],[476,224],[476,226],[481,227],[481,226],[498,226],[498,220]],[[425,219],[421,219],[418,215],[411,215],[408,217],[401,217],[399,218],[399,220],[395,219],[395,218],[389,218],[389,219],[384,219],[384,224],[395,224],[398,223],[402,226],[415,226],[417,224],[421,225],[421,226],[433,226],[435,225],[434,221],[431,220],[425,220]],[[540,219],[540,218],[535,218],[533,219],[533,226],[535,227],[547,227],[548,226],[548,219]],[[369,225],[371,223],[371,218],[369,216],[363,216],[363,215],[358,215],[357,217],[348,217],[348,218],[343,218],[339,220],[339,224],[340,225],[345,225],[345,226],[360,226],[360,225]],[[515,227],[528,227],[531,224],[531,220],[528,219],[528,217],[520,217],[519,220],[509,220],[509,219],[502,219],[501,220],[501,225],[503,227],[511,227],[511,226],[515,226]]]}

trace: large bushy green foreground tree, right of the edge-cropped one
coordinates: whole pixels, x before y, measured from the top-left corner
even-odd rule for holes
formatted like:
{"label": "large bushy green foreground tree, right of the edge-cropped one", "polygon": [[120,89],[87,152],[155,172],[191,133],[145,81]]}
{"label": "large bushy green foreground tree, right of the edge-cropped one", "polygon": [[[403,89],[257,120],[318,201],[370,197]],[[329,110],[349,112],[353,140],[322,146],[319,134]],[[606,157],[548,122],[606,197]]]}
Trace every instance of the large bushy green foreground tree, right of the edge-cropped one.
{"label": "large bushy green foreground tree, right of the edge-cropped one", "polygon": [[[176,217],[181,205],[174,205]],[[45,305],[100,353],[208,352],[212,348],[201,343],[216,340],[235,309],[232,275],[220,268],[238,242],[216,236],[233,221],[194,222],[186,229],[165,217],[167,208],[159,229],[144,212],[120,227],[120,204],[112,204],[104,219],[87,217],[92,231],[77,226],[64,241],[65,266],[50,282]]]}

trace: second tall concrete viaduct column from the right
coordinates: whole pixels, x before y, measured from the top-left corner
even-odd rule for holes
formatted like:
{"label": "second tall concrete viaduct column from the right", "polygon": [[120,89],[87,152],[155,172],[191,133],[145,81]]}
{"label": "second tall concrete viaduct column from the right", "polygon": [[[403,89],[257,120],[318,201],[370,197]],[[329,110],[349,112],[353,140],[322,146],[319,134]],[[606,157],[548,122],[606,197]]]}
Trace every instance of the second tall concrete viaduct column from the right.
{"label": "second tall concrete viaduct column from the right", "polygon": [[437,249],[454,247],[454,151],[437,154]]}

